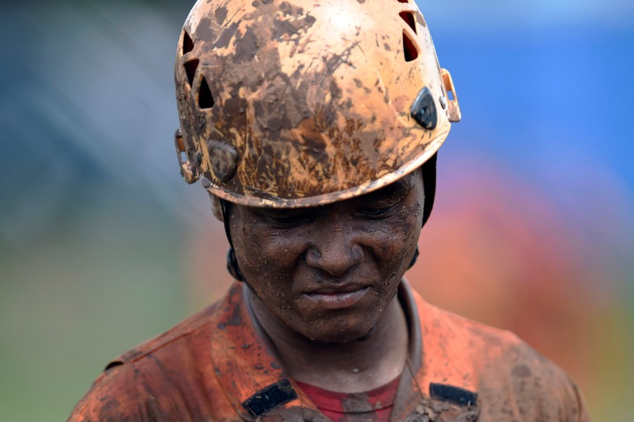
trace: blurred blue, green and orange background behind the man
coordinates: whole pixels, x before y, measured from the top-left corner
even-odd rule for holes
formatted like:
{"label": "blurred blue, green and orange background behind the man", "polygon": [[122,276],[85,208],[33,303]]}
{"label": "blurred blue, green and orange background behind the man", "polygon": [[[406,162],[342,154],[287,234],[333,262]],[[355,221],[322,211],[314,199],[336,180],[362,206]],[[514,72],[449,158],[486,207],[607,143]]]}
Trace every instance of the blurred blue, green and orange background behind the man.
{"label": "blurred blue, green and orange background behind the man", "polygon": [[[596,421],[634,421],[634,6],[419,5],[463,121],[408,278],[553,359]],[[172,140],[191,6],[2,3],[2,421],[64,420],[109,359],[229,282]]]}

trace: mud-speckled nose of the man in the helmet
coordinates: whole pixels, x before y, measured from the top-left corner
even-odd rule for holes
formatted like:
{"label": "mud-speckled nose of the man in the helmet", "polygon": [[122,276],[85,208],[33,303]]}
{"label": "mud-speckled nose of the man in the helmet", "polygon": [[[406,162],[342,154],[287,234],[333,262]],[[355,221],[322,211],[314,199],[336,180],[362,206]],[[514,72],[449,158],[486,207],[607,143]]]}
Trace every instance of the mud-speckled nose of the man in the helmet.
{"label": "mud-speckled nose of the man in the helmet", "polygon": [[306,253],[306,264],[338,276],[363,260],[362,246],[345,224],[325,224]]}

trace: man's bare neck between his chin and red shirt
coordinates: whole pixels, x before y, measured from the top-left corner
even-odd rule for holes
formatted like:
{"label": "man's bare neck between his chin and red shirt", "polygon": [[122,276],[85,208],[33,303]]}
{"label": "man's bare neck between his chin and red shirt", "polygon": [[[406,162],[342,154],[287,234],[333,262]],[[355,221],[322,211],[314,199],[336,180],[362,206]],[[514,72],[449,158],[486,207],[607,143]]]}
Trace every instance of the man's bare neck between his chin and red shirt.
{"label": "man's bare neck between his chin and red shirt", "polygon": [[[407,320],[397,297],[378,319],[374,330],[360,340],[342,344],[311,341],[294,332],[249,295],[254,314],[271,339],[283,365],[298,381],[336,392],[364,392],[392,381],[405,368]],[[281,324],[278,324],[281,323]]]}

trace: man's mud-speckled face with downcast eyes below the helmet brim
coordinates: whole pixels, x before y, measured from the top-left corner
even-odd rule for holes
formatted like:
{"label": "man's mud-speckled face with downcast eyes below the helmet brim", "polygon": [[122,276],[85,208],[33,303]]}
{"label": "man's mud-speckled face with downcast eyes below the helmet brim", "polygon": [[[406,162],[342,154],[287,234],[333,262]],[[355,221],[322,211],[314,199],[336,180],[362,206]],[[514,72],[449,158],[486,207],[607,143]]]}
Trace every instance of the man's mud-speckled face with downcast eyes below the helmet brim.
{"label": "man's mud-speckled face with downcast eyes below the helmet brim", "polygon": [[246,282],[265,312],[317,341],[366,335],[396,295],[418,242],[420,169],[378,191],[321,207],[232,205]]}

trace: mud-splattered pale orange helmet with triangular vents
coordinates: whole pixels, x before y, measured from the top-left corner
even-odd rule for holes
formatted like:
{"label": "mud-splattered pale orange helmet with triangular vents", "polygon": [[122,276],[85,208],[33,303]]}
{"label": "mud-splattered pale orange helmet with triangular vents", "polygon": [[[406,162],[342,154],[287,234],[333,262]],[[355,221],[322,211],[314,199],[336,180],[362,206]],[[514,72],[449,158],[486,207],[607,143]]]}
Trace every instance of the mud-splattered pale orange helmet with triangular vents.
{"label": "mud-splattered pale orange helmet with triangular vents", "polygon": [[175,78],[183,177],[249,206],[379,189],[460,120],[413,0],[198,0]]}

